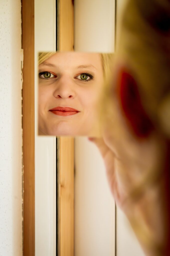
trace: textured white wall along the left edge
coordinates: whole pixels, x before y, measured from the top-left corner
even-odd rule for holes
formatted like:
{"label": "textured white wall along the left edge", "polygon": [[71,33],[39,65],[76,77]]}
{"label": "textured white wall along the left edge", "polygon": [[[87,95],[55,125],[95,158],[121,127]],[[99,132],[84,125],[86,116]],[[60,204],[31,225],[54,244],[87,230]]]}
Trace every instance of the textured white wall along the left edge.
{"label": "textured white wall along the left edge", "polygon": [[21,1],[0,8],[0,255],[22,255]]}

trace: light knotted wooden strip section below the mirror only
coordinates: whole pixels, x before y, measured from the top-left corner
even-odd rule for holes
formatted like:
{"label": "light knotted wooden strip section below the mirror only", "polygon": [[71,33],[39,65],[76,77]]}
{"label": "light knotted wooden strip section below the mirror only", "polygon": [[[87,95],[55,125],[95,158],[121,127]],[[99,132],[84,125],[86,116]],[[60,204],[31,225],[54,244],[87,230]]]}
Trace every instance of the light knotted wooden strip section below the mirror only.
{"label": "light knotted wooden strip section below the mirror only", "polygon": [[74,138],[60,137],[60,256],[74,256]]}

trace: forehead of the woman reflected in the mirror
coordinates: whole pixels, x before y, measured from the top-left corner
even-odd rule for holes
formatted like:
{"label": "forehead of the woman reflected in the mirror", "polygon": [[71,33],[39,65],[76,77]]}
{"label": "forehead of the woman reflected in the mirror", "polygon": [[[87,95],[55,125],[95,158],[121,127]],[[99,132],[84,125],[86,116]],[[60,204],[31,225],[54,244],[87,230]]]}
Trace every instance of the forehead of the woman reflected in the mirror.
{"label": "forehead of the woman reflected in the mirror", "polygon": [[59,68],[91,68],[102,71],[102,62],[99,53],[57,52],[40,64],[40,66],[46,64],[52,64]]}

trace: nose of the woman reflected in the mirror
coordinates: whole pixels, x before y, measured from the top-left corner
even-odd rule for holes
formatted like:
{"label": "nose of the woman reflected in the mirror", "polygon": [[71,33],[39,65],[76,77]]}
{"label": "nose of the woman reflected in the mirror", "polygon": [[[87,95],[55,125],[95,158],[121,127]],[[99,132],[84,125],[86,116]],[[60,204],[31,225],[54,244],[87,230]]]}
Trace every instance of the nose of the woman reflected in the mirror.
{"label": "nose of the woman reflected in the mirror", "polygon": [[68,77],[59,78],[53,95],[55,98],[74,99],[76,96],[74,80]]}

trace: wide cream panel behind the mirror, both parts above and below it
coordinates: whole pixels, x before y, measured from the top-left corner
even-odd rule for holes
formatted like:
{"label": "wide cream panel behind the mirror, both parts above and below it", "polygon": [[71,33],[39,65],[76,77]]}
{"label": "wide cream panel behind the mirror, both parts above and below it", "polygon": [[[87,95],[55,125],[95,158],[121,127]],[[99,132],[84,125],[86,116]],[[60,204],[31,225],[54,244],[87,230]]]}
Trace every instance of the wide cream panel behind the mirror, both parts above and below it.
{"label": "wide cream panel behind the mirror, both parts above and below it", "polygon": [[[114,52],[115,1],[75,0],[75,50]],[[103,159],[75,138],[75,256],[115,255],[115,203]]]}

